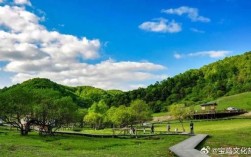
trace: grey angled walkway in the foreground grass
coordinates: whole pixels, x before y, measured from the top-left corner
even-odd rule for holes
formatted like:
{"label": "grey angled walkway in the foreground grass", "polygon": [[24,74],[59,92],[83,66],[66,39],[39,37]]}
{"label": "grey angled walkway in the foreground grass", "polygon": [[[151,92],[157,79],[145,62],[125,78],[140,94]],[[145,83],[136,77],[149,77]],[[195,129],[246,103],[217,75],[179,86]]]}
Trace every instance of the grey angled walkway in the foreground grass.
{"label": "grey angled walkway in the foreground grass", "polygon": [[198,134],[186,139],[169,149],[179,157],[209,157],[208,155],[202,154],[195,147],[200,144],[208,135]]}

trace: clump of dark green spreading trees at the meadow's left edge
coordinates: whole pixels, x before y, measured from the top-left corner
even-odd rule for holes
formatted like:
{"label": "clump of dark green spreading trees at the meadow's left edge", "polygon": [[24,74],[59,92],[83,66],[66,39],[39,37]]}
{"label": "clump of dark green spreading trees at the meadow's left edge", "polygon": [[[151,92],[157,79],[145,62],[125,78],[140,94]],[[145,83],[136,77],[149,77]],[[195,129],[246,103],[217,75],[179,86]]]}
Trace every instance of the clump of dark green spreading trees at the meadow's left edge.
{"label": "clump of dark green spreading trees at the meadow's left edge", "polygon": [[[28,90],[29,89],[29,90]],[[74,122],[77,105],[70,96],[52,88],[13,86],[0,93],[3,120],[18,127],[21,134],[28,134],[31,124],[53,128]]]}

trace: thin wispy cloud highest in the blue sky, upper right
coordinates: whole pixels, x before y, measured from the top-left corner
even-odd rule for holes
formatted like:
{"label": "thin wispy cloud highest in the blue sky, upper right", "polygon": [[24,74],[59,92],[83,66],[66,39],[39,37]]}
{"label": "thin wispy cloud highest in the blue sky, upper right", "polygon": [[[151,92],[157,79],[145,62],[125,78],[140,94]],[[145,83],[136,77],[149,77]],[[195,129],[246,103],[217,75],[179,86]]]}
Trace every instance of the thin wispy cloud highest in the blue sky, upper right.
{"label": "thin wispy cloud highest in the blue sky, upper right", "polygon": [[162,13],[166,14],[175,14],[175,15],[187,15],[192,21],[200,21],[200,22],[210,22],[210,19],[204,16],[199,15],[199,11],[197,8],[190,8],[187,6],[182,6],[176,9],[163,9]]}

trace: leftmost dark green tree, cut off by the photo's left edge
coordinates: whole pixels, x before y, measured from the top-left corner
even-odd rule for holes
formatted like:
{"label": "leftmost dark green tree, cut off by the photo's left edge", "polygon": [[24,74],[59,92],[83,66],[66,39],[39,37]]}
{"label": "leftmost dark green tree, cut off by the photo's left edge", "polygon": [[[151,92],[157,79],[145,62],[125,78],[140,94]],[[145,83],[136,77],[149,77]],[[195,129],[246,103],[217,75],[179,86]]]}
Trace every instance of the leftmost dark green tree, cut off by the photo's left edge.
{"label": "leftmost dark green tree, cut off by the photo's left edge", "polygon": [[20,87],[11,88],[0,94],[2,120],[20,130],[21,135],[29,132],[27,119],[32,113],[32,94]]}

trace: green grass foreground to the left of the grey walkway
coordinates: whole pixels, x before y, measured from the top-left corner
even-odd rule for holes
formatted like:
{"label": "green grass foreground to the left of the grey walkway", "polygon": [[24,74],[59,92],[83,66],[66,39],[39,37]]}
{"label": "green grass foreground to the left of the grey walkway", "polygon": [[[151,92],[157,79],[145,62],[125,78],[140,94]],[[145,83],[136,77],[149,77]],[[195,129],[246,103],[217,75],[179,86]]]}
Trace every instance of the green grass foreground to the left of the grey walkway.
{"label": "green grass foreground to the left of the grey walkway", "polygon": [[168,148],[187,136],[154,136],[138,139],[94,138],[82,136],[20,136],[0,128],[1,157],[117,157],[170,156]]}

